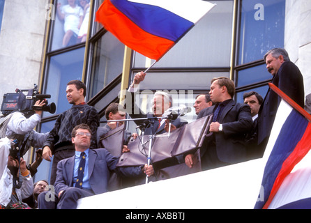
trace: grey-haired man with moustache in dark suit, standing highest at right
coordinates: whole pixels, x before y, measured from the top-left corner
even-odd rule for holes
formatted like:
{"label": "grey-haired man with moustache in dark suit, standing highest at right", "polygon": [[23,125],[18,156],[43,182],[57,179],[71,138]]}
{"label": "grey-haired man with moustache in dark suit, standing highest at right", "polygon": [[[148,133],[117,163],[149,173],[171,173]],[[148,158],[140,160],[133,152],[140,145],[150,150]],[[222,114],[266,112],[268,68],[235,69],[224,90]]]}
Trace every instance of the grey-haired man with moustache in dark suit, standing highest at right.
{"label": "grey-haired man with moustache in dark suit, standing highest at right", "polygon": [[[273,75],[272,84],[286,93],[298,105],[304,107],[305,90],[303,76],[299,68],[290,61],[285,49],[271,49],[264,56],[266,68]],[[268,89],[264,102],[259,109],[258,144],[266,147],[275,114],[280,105],[281,98],[271,89]]]}

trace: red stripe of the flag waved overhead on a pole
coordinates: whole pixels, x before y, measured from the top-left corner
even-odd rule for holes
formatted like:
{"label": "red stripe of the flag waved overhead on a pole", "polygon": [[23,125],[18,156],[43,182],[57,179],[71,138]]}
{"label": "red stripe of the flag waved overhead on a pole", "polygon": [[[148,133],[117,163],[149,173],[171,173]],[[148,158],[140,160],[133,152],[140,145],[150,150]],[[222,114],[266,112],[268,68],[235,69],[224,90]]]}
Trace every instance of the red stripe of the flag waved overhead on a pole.
{"label": "red stripe of the flag waved overhead on a pole", "polygon": [[[105,0],[96,13],[96,22],[103,24],[121,43],[131,49],[149,57],[159,60],[174,46],[172,40],[153,36],[142,30],[126,15],[123,15],[110,0]],[[114,31],[114,30],[117,30]],[[139,43],[139,44],[137,44]]]}

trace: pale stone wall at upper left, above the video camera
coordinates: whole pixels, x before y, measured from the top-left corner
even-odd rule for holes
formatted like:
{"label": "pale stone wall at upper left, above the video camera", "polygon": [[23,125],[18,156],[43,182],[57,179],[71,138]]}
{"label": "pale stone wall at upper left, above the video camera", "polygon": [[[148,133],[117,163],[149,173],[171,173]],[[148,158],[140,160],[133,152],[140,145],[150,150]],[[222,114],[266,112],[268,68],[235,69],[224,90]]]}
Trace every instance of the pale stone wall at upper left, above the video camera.
{"label": "pale stone wall at upper left, above the video camera", "polygon": [[0,105],[3,94],[39,84],[49,0],[7,0],[0,31]]}

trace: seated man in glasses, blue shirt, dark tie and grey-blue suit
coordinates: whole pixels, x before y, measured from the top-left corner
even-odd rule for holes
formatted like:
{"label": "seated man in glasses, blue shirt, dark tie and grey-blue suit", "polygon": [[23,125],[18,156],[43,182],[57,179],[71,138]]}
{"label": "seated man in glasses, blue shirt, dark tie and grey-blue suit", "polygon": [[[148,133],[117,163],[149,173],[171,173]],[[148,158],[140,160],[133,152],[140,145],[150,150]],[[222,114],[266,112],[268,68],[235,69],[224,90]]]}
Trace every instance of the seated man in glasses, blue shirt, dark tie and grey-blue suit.
{"label": "seated man in glasses, blue shirt, dark tie and grey-blue suit", "polygon": [[[77,208],[77,200],[94,194],[107,192],[109,171],[116,171],[123,177],[138,177],[153,174],[153,167],[123,167],[116,168],[118,158],[112,156],[104,148],[90,149],[91,130],[88,125],[77,125],[73,129],[72,141],[75,145],[75,156],[61,160],[57,165],[55,182],[56,197],[47,198],[48,192],[38,197],[39,209]],[[79,162],[85,160],[82,176]]]}

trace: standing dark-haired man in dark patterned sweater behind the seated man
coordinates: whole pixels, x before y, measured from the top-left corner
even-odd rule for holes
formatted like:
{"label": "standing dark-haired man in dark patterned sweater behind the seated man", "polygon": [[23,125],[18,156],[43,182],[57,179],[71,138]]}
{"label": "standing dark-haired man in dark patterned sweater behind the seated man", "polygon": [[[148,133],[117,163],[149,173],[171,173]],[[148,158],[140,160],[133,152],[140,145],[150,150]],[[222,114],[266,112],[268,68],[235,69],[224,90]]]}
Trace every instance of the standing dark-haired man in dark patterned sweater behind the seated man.
{"label": "standing dark-haired man in dark patterned sweater behind the seated man", "polygon": [[43,145],[43,158],[51,161],[54,155],[50,184],[56,180],[56,167],[60,160],[75,155],[75,147],[71,142],[71,131],[76,125],[86,124],[91,128],[91,148],[97,148],[96,131],[99,125],[98,112],[94,107],[84,101],[86,86],[79,80],[68,82],[66,88],[67,100],[73,105],[67,111],[61,113],[56,119],[54,128],[50,131],[47,141]]}

